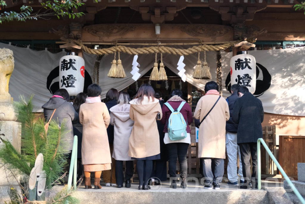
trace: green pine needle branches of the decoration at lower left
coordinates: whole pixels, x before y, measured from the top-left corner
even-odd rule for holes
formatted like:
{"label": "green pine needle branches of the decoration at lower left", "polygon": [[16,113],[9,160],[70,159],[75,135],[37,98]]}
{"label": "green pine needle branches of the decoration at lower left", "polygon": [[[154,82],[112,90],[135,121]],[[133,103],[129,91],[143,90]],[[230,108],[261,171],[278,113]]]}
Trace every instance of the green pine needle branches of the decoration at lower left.
{"label": "green pine needle branches of the decoration at lower left", "polygon": [[59,126],[58,121],[51,120],[46,134],[44,120],[39,118],[35,121],[32,99],[33,95],[28,101],[20,97],[20,102],[16,103],[19,111],[18,120],[22,124],[21,153],[15,150],[11,143],[5,141],[5,147],[0,149],[0,159],[7,168],[29,176],[37,155],[42,153],[43,170],[47,178],[46,187],[51,188],[64,173],[63,169],[69,153],[65,149],[69,146],[65,135],[71,130],[66,129],[65,122]]}

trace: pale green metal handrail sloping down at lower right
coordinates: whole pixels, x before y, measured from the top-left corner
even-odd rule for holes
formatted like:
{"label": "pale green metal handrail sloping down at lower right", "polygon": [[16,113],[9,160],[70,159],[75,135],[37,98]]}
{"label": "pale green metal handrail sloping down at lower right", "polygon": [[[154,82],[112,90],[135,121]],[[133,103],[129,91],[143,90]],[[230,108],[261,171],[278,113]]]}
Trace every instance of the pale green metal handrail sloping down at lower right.
{"label": "pale green metal handrail sloping down at lower right", "polygon": [[278,167],[278,170],[280,170],[280,172],[282,173],[282,175],[284,176],[285,180],[287,181],[287,183],[290,185],[291,189],[293,190],[293,192],[296,194],[296,196],[299,198],[299,200],[305,204],[305,200],[302,197],[302,195],[299,193],[299,191],[296,189],[296,187],[292,184],[291,180],[289,179],[289,177],[287,176],[287,174],[285,173],[284,169],[281,167],[281,165],[278,163],[278,161],[276,160],[276,158],[274,157],[274,155],[272,154],[272,152],[270,151],[270,149],[268,148],[267,144],[265,143],[265,141],[263,140],[263,138],[259,138],[257,140],[257,177],[258,177],[258,185],[257,188],[261,189],[261,165],[260,165],[260,143],[262,143],[262,145],[265,147],[267,153],[269,154],[269,156],[271,157],[272,161],[274,162],[274,164]]}

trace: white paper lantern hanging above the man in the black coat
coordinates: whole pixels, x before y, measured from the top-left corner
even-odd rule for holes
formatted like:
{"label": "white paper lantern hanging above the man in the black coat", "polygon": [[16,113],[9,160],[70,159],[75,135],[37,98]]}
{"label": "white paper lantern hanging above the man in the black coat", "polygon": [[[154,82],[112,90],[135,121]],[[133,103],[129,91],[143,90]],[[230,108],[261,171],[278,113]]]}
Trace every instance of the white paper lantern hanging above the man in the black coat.
{"label": "white paper lantern hanging above the man in the black coat", "polygon": [[253,94],[256,87],[256,61],[252,55],[238,54],[230,60],[231,85],[240,84]]}

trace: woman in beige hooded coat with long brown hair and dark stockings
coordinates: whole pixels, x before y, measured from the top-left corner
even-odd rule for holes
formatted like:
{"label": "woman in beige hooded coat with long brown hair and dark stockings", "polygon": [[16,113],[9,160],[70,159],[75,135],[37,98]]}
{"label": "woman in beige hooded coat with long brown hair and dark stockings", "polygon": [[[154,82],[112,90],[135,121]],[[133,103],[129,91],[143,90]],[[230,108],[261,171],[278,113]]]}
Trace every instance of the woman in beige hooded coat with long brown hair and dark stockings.
{"label": "woman in beige hooded coat with long brown hair and dark stockings", "polygon": [[142,84],[135,99],[129,102],[131,104],[129,116],[135,124],[129,138],[128,155],[138,160],[139,190],[150,188],[147,183],[152,172],[152,160],[160,159],[160,139],[156,119],[162,118],[162,109],[154,94],[155,91],[149,84]]}

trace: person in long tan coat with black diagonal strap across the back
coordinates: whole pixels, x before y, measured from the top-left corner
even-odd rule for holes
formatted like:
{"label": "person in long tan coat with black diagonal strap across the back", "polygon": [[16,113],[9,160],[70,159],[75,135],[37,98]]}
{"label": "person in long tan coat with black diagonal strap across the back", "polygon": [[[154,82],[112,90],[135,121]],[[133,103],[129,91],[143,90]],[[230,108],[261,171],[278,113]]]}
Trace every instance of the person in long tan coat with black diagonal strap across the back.
{"label": "person in long tan coat with black diagonal strap across the back", "polygon": [[[206,94],[199,99],[194,113],[194,117],[202,121],[198,134],[198,157],[203,158],[205,189],[220,189],[224,175],[225,127],[230,114],[228,103],[220,97],[218,90],[216,82],[206,83]],[[215,176],[211,168],[212,159],[215,162]]]}

